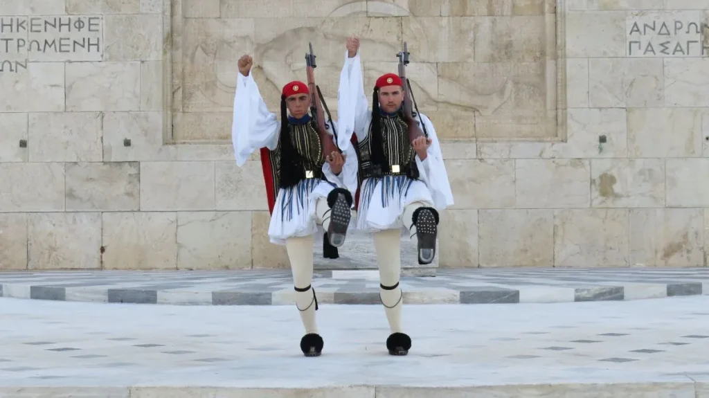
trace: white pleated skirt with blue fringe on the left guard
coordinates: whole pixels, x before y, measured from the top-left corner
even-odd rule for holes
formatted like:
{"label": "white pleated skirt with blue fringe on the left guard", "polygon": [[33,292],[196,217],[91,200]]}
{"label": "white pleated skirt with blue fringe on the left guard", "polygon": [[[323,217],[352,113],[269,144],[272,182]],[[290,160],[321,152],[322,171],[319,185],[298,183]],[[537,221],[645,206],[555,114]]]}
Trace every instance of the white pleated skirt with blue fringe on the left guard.
{"label": "white pleated skirt with blue fringe on the left guard", "polygon": [[286,244],[291,237],[318,232],[316,201],[327,198],[335,184],[315,178],[301,180],[291,188],[279,188],[268,235],[274,244]]}

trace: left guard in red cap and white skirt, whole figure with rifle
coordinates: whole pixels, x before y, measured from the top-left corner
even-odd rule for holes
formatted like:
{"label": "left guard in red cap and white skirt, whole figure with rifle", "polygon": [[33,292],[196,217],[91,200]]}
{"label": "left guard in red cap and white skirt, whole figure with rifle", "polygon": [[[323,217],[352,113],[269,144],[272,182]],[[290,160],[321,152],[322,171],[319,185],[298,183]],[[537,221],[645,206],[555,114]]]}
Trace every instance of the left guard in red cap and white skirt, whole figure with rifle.
{"label": "left guard in red cap and white skirt, whole figure with rifle", "polygon": [[308,84],[291,81],[283,87],[281,117],[277,118],[269,112],[252,77],[252,58],[239,59],[232,140],[238,166],[259,149],[271,212],[269,238],[286,246],[296,307],[306,331],[301,351],[305,356],[319,356],[323,338],[316,325],[318,299],[311,286],[313,236],[322,225],[323,254],[337,258],[357,190],[357,154],[351,148],[345,153],[337,149],[337,125],[332,118],[325,122],[320,90],[314,82],[312,47],[306,60]]}

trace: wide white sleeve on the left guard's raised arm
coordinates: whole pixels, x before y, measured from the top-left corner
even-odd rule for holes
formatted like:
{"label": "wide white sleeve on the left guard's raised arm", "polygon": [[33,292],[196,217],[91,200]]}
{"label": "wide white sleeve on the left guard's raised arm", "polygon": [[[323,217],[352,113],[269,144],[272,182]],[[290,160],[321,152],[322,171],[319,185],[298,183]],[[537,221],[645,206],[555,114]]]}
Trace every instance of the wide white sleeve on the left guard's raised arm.
{"label": "wide white sleeve on the left guard's raised arm", "polygon": [[257,149],[276,149],[280,129],[280,120],[269,112],[251,72],[249,76],[239,73],[231,126],[236,164],[242,166]]}

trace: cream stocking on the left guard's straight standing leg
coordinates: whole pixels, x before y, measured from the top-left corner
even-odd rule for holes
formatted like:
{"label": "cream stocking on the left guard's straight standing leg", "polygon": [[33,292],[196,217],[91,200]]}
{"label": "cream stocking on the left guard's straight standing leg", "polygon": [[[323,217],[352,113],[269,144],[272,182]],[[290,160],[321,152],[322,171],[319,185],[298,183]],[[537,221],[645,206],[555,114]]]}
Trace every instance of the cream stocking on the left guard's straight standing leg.
{"label": "cream stocking on the left guard's straight standing leg", "polygon": [[[307,288],[313,283],[313,235],[286,239],[286,250],[291,261],[294,285],[300,289]],[[306,334],[318,333],[315,295],[312,287],[305,292],[296,291],[296,306],[301,313]]]}

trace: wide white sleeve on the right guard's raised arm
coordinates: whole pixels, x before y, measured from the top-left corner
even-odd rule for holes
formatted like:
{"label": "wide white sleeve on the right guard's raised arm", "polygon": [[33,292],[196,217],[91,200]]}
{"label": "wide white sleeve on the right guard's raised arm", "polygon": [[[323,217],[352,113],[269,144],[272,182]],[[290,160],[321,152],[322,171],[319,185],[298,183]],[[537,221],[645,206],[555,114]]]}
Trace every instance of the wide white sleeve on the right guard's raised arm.
{"label": "wide white sleeve on the right guard's raised arm", "polygon": [[345,65],[340,72],[340,86],[337,89],[337,146],[346,148],[350,145],[352,134],[362,141],[367,137],[372,113],[364,94],[362,80],[362,62],[357,55],[350,58],[345,50]]}

